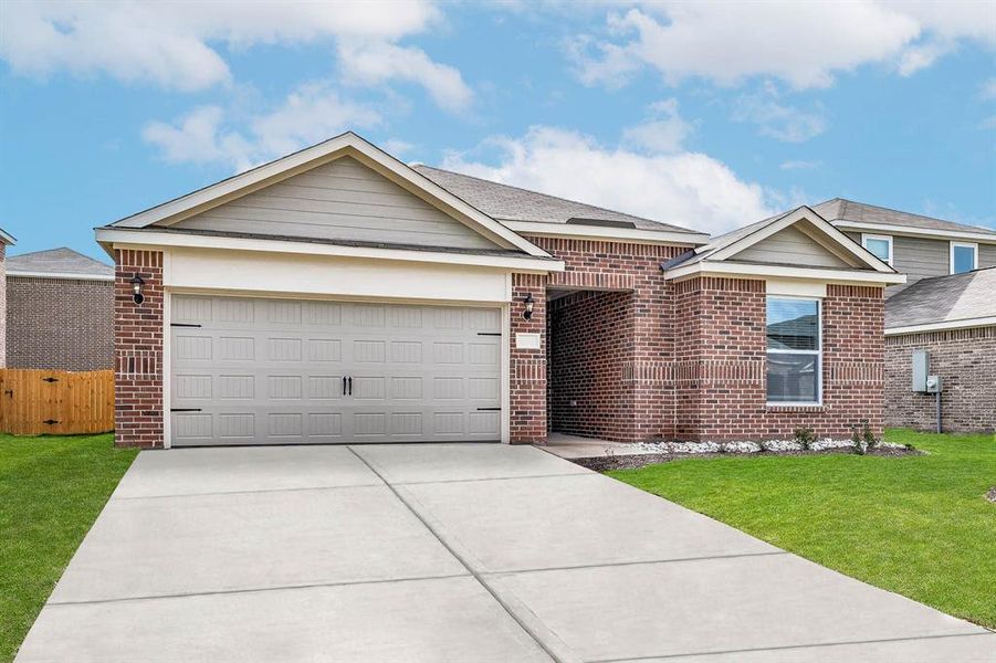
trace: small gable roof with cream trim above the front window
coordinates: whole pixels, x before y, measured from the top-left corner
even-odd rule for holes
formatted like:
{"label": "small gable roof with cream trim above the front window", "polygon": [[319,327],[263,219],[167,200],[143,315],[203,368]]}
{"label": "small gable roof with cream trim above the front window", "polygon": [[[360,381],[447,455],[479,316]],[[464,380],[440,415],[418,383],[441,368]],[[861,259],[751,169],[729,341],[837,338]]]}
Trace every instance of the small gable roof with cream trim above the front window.
{"label": "small gable roof with cream trim above the front window", "polygon": [[[737,254],[741,252],[789,227],[801,229],[815,243],[820,244],[829,253],[837,255],[850,266],[814,267],[797,263],[778,265],[736,260]],[[710,243],[663,263],[661,269],[664,271],[667,278],[677,278],[695,272],[709,271],[764,275],[780,269],[780,272],[784,272],[782,275],[785,276],[806,277],[817,273],[828,276],[834,272],[846,272],[851,276],[857,274],[862,278],[874,282],[905,282],[905,276],[899,274],[889,264],[876,257],[871,252],[834,228],[826,219],[806,206],[719,235]]]}

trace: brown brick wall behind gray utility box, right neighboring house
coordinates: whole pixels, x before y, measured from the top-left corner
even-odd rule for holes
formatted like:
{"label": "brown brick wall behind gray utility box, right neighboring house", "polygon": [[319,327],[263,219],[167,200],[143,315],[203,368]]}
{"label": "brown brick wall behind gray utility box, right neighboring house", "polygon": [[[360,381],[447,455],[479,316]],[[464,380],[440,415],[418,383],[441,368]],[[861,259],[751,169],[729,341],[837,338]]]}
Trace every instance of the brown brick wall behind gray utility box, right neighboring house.
{"label": "brown brick wall behind gray utility box, right neighboring house", "polygon": [[934,394],[911,389],[914,349],[930,350],[930,372],[943,379],[942,430],[996,431],[996,326],[885,338],[885,423],[934,431]]}

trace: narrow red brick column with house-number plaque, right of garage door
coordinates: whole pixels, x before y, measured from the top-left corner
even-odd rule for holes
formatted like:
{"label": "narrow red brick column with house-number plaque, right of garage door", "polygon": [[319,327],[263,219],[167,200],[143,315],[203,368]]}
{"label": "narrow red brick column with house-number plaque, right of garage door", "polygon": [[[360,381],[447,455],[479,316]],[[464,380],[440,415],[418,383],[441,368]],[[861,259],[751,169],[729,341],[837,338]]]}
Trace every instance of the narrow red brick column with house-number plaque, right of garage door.
{"label": "narrow red brick column with house-number plaque, right of garage door", "polygon": [[[533,294],[533,317],[525,319],[523,299]],[[512,356],[510,382],[512,428],[510,442],[532,444],[546,442],[546,276],[512,275]],[[515,334],[539,334],[539,349],[515,347]]]}

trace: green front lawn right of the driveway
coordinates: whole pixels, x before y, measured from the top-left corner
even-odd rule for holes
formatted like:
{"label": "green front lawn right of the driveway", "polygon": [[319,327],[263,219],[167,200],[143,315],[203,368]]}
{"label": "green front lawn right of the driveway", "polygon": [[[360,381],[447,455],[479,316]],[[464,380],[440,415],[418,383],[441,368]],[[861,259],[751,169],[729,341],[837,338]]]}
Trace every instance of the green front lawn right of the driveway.
{"label": "green front lawn right of the driveway", "polygon": [[929,455],[690,459],[609,475],[996,628],[996,436],[889,430]]}

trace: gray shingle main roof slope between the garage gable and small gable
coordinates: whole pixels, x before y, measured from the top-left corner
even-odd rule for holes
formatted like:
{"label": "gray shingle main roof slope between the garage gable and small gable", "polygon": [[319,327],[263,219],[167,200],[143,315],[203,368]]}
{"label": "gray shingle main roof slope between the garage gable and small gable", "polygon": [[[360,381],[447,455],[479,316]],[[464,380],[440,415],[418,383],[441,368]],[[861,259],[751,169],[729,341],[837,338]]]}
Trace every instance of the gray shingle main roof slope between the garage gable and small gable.
{"label": "gray shingle main roof slope between the garage gable and small gable", "polygon": [[469,175],[432,168],[431,166],[418,164],[413,165],[412,168],[450,193],[462,198],[471,206],[499,221],[567,223],[569,219],[576,219],[572,223],[598,225],[599,221],[608,221],[614,222],[611,223],[612,225],[619,224],[623,228],[637,230],[701,234],[698,231],[681,228],[680,225],[671,225],[642,217],[615,212],[584,202],[566,200],[509,185],[500,185]]}

